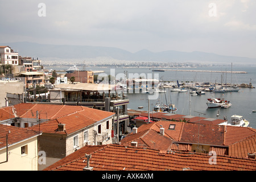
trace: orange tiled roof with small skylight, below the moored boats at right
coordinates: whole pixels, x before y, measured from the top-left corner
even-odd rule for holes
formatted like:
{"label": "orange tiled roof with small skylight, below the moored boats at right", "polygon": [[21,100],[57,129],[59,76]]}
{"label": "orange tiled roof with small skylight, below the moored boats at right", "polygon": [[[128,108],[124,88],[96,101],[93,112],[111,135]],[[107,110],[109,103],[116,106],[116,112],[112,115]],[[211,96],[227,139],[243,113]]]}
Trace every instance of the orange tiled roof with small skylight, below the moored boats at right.
{"label": "orange tiled roof with small skylight, below the moored boats at right", "polygon": [[[169,129],[170,125],[175,125],[175,129]],[[165,135],[176,142],[200,143],[212,146],[229,146],[256,133],[256,129],[250,127],[204,125],[177,121],[158,121],[142,125],[138,127],[138,132],[148,129],[159,132],[162,126]]]}

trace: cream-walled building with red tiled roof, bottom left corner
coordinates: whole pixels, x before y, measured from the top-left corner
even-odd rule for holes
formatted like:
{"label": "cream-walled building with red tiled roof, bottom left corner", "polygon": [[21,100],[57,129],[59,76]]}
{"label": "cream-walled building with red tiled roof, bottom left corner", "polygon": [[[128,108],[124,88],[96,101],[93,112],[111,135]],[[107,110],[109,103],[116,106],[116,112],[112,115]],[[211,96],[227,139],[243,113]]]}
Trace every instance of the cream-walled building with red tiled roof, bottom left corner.
{"label": "cream-walled building with red tiled roof, bottom left corner", "polygon": [[0,131],[0,170],[38,171],[38,137],[42,133],[2,124]]}

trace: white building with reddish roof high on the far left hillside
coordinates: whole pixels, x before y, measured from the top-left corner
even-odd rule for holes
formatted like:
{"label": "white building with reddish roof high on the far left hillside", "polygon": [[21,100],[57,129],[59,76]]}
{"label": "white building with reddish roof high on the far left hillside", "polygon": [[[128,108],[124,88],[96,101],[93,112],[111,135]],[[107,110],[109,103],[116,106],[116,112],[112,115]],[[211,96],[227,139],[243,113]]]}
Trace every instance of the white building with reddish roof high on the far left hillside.
{"label": "white building with reddish roof high on the far left hillside", "polygon": [[18,52],[14,52],[9,46],[0,46],[1,64],[19,64]]}

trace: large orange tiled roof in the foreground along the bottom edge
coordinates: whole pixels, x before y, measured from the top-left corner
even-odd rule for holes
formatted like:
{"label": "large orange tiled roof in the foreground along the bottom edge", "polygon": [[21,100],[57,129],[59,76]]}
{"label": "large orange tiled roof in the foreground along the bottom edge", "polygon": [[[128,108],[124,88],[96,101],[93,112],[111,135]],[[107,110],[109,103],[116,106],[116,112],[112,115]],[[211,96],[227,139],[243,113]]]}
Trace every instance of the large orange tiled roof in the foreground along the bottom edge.
{"label": "large orange tiled roof in the foreground along the bottom edge", "polygon": [[[81,150],[81,149],[80,149]],[[79,150],[72,154],[69,159],[61,159],[52,164],[47,170],[58,171],[81,171],[86,167],[86,158],[81,157]],[[84,154],[89,152],[83,150]],[[151,148],[137,148],[109,144],[95,152],[90,150],[90,167],[93,171],[165,171],[184,169],[199,171],[255,171],[255,160],[245,158],[232,158],[230,156],[217,156],[216,164],[210,164],[210,155],[191,154],[189,152],[166,152],[153,150]]]}

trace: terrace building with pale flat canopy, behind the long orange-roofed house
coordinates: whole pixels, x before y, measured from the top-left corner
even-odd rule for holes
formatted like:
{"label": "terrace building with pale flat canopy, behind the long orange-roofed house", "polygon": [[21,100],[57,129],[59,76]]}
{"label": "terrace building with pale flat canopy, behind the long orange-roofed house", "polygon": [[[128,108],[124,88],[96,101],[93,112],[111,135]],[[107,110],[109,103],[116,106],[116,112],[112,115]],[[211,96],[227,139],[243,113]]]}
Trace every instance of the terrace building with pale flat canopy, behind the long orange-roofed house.
{"label": "terrace building with pale flat canopy, behind the long orange-roofed house", "polygon": [[49,90],[48,101],[51,104],[80,105],[116,113],[114,131],[119,139],[127,132],[130,123],[127,114],[129,98],[122,90],[116,90],[118,88],[111,84],[60,84]]}

